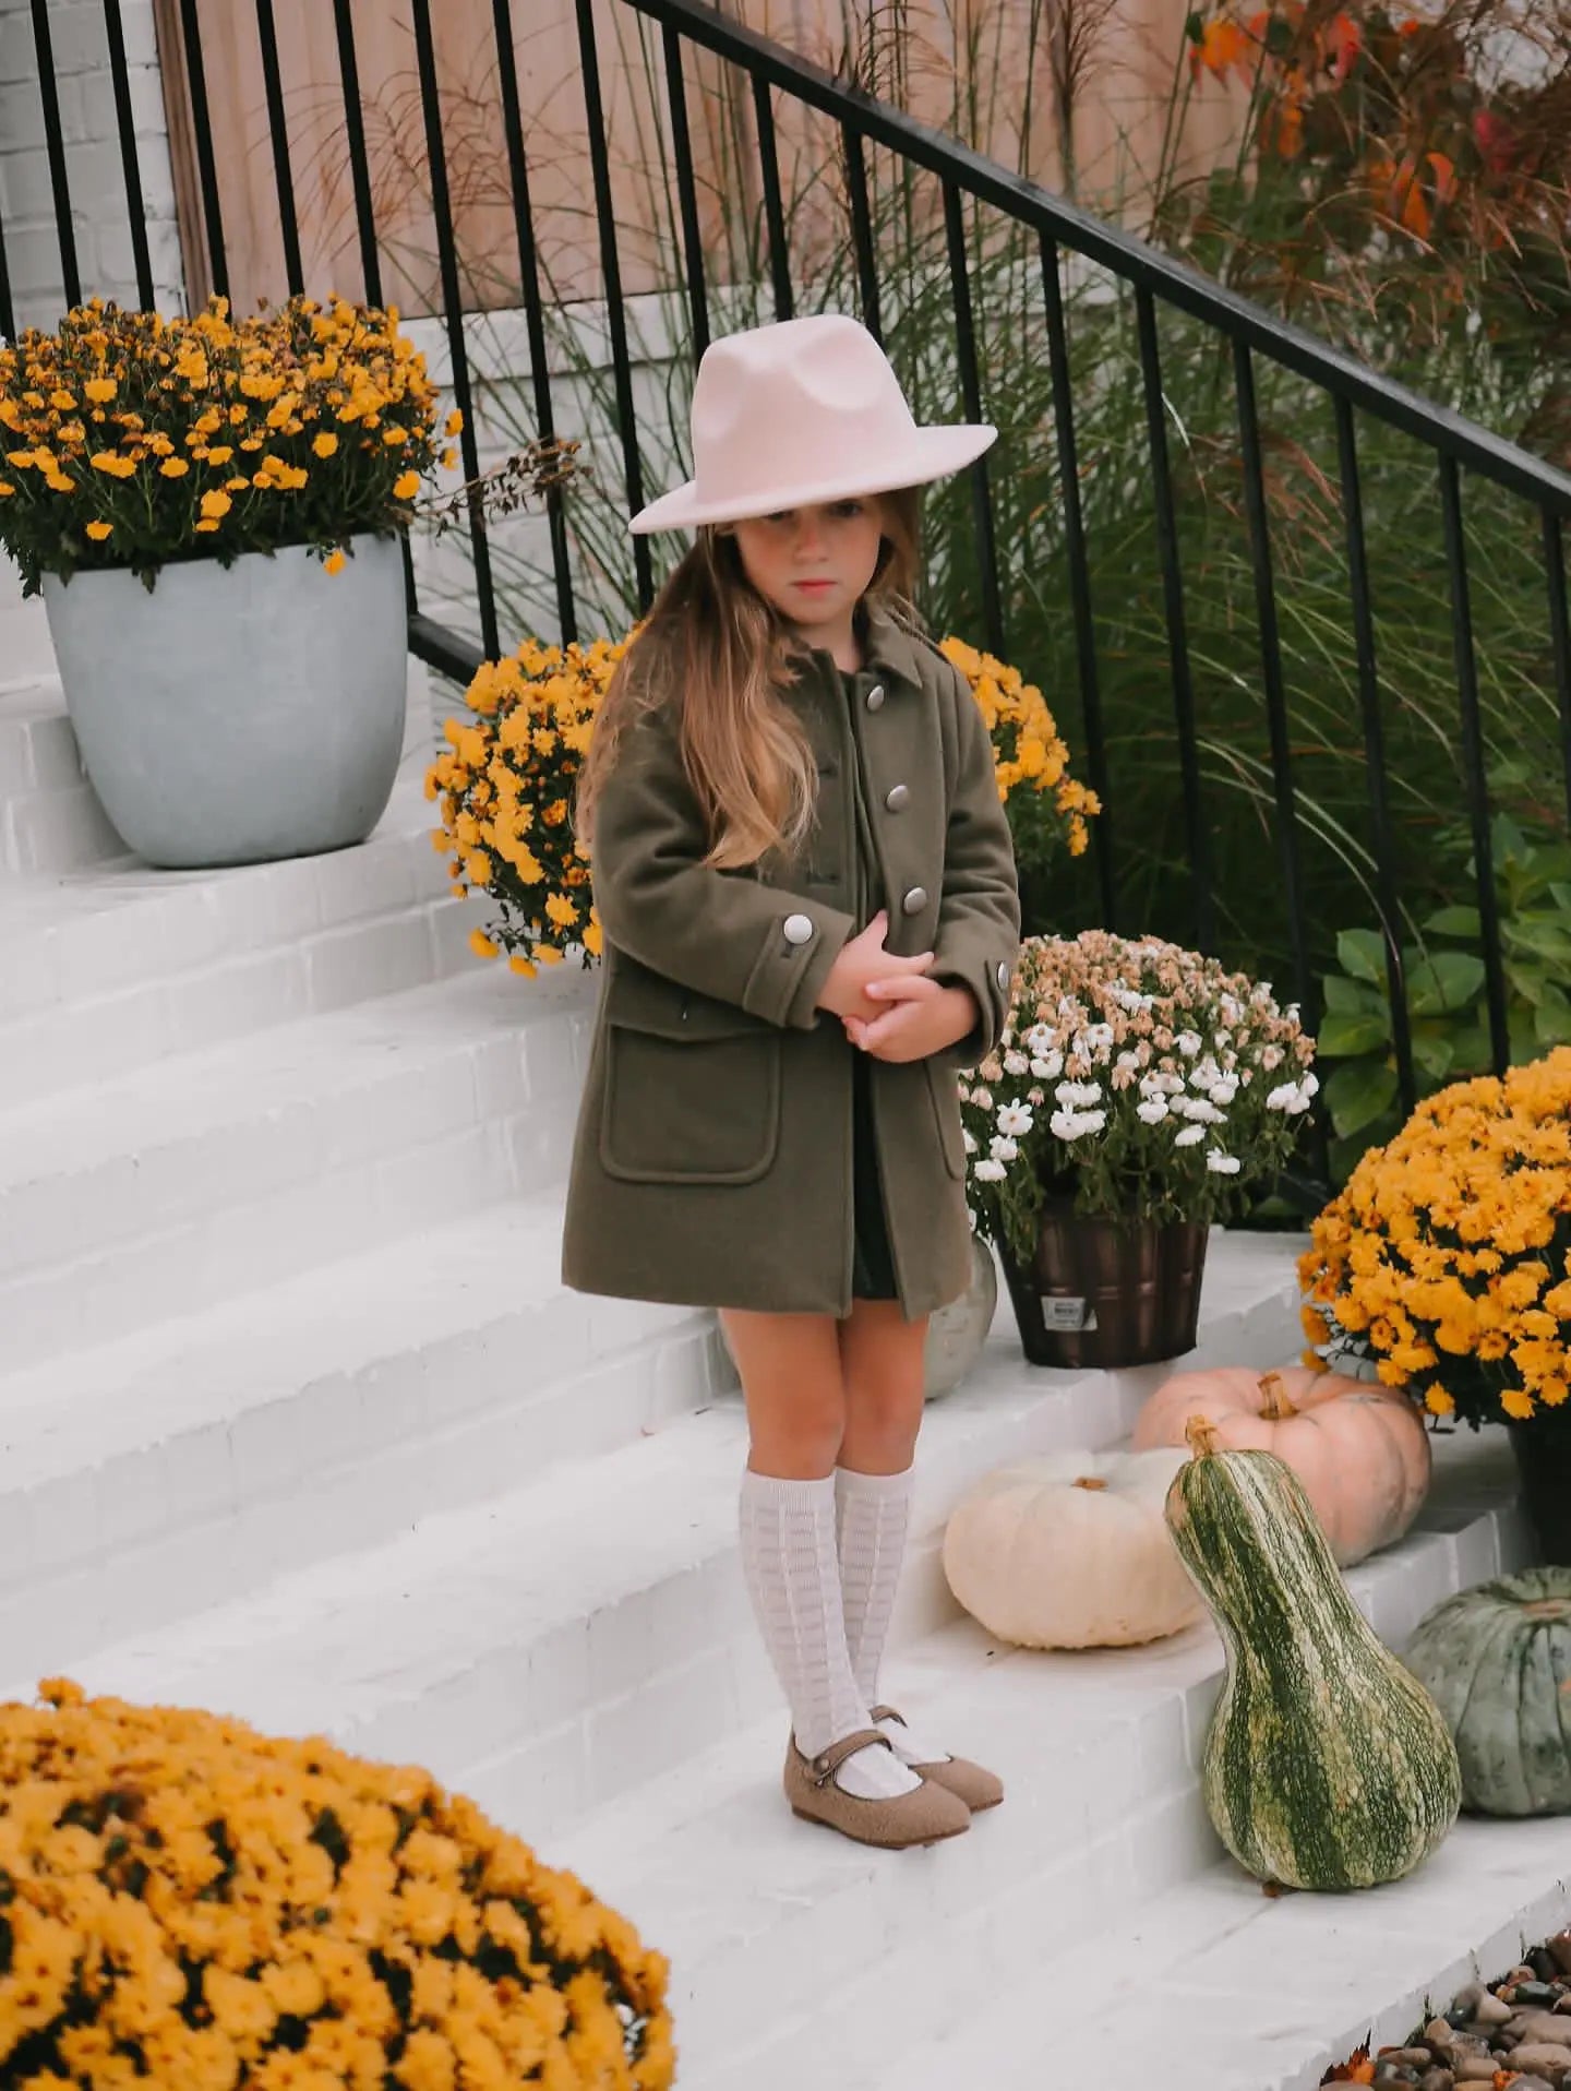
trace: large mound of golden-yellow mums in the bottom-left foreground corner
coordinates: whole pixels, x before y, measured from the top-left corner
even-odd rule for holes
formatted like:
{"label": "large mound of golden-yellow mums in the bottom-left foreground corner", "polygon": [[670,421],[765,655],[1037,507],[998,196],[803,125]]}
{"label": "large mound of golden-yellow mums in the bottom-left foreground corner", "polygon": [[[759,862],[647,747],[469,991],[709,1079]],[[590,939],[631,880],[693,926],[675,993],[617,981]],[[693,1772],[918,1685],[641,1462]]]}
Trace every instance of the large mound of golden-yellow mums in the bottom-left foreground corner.
{"label": "large mound of golden-yellow mums in the bottom-left foreground corner", "polygon": [[240,1721],[0,1706],[10,2091],[664,2091],[666,1961],[424,1773]]}

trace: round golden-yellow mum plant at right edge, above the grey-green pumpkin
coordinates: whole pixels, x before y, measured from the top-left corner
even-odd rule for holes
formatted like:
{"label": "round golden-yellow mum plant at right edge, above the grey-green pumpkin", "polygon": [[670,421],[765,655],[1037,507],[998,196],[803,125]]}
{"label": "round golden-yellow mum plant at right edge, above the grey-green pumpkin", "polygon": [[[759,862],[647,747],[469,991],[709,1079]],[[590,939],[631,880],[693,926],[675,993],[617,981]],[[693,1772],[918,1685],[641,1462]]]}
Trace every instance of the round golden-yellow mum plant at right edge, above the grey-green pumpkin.
{"label": "round golden-yellow mum plant at right edge, above the grey-green pumpkin", "polygon": [[1433,1416],[1527,1422],[1571,1386],[1571,1048],[1458,1081],[1373,1148],[1299,1261],[1304,1326]]}

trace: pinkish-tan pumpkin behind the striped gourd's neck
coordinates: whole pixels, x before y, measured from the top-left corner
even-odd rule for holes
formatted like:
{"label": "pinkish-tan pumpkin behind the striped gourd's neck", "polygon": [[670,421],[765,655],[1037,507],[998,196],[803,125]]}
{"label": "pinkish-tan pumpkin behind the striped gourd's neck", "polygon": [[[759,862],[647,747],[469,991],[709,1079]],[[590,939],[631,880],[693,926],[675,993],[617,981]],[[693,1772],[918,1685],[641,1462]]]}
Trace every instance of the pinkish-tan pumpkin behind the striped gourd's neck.
{"label": "pinkish-tan pumpkin behind the striped gourd's neck", "polygon": [[1429,1493],[1429,1432],[1391,1386],[1304,1365],[1180,1372],[1151,1395],[1130,1443],[1182,1445],[1191,1420],[1214,1424],[1224,1451],[1274,1451],[1291,1466],[1343,1568],[1393,1545]]}

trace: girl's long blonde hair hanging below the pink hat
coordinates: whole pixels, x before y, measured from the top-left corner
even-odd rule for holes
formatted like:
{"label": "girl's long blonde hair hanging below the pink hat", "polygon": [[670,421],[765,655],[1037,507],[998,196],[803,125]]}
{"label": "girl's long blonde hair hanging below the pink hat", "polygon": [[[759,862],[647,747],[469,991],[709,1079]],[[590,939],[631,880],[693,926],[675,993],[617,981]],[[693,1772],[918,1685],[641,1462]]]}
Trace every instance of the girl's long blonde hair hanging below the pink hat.
{"label": "girl's long blonde hair hanging below the pink hat", "polygon": [[[921,493],[880,493],[880,562],[865,602],[915,623]],[[706,864],[756,864],[794,849],[808,830],[817,767],[800,719],[783,700],[802,644],[742,567],[735,537],[704,525],[654,600],[648,623],[612,675],[579,772],[575,832],[593,843],[595,803],[627,728],[658,705],[679,711],[687,782],[706,830]]]}

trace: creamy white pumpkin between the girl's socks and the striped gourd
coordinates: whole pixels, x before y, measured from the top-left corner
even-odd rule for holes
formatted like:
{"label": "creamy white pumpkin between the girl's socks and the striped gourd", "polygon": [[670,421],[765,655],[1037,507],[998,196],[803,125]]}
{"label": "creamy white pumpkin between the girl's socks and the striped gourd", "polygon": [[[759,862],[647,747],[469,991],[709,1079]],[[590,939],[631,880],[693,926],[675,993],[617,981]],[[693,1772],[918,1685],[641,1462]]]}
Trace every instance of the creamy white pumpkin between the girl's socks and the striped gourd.
{"label": "creamy white pumpkin between the girl's socks and the striped gourd", "polygon": [[1164,1506],[1187,1451],[1059,1451],[986,1474],[944,1531],[944,1575],[988,1633],[1019,1648],[1130,1648],[1205,1606]]}

